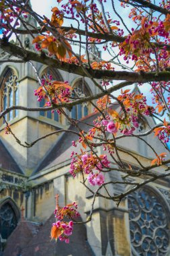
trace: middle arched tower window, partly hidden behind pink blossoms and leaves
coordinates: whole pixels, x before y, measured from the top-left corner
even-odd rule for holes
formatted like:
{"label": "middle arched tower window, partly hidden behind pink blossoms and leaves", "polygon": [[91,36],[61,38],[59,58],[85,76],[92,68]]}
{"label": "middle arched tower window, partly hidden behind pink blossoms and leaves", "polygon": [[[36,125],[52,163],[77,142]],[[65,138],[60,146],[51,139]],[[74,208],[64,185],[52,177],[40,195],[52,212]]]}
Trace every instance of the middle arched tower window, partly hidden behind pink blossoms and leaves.
{"label": "middle arched tower window, partly hidden behind pink blossoms and leaves", "polygon": [[[42,78],[47,78],[49,77],[50,75],[52,75],[52,79],[53,80],[56,80],[56,81],[62,81],[62,77],[60,77],[60,75],[58,74],[58,72],[54,71],[53,69],[50,69],[50,68],[46,68],[41,77]],[[46,100],[43,98],[41,101],[40,101],[40,106],[44,106],[44,104],[46,103]],[[52,111],[40,111],[40,116],[42,117],[46,117],[48,119],[52,119],[53,121],[56,121],[56,122],[59,122],[59,115],[58,113],[56,112],[56,110],[54,111],[54,113],[52,113]]]}

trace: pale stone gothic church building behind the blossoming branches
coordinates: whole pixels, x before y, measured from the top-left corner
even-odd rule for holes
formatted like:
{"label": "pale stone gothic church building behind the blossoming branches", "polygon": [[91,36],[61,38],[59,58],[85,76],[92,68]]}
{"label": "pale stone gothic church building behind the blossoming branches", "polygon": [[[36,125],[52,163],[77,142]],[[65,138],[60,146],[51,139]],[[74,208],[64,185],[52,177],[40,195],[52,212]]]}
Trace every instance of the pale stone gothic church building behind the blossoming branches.
{"label": "pale stone gothic church building behind the blossoming branches", "polygon": [[[29,19],[29,17],[28,17]],[[30,24],[34,20],[30,19]],[[35,25],[35,24],[34,24]],[[30,37],[21,36],[29,51],[34,51]],[[16,42],[17,43],[17,42]],[[0,50],[0,59],[14,58]],[[38,79],[29,63],[17,62],[0,64],[0,104],[3,109],[13,105],[27,108],[44,106],[38,102],[34,90]],[[93,95],[98,88],[88,78],[60,71],[34,63],[40,77],[52,75],[57,81],[68,81],[77,96]],[[134,86],[134,90],[138,90]],[[93,123],[91,103],[79,104],[67,110],[67,115],[79,119],[81,129],[88,129],[85,123]],[[78,139],[73,133],[54,133],[38,141],[38,137],[62,129],[75,130],[68,119],[55,111],[13,110],[5,119],[15,137],[6,134],[5,122],[0,119],[0,256],[168,256],[170,255],[170,190],[169,178],[144,185],[116,202],[96,197],[93,218],[86,225],[74,225],[70,243],[51,241],[50,228],[55,222],[56,195],[59,205],[76,201],[81,220],[86,220],[91,210],[93,195],[81,183],[81,174],[75,179],[69,173],[72,141]],[[138,131],[147,131],[155,121],[147,117],[141,121]],[[147,135],[146,141],[165,152],[162,143]],[[126,154],[132,152],[144,166],[155,158],[144,141],[138,138],[120,139],[118,146],[125,164],[138,168],[138,162]],[[79,152],[80,148],[77,148]],[[105,154],[102,148],[97,154]],[[109,157],[109,156],[108,156]],[[114,164],[116,166],[116,164]],[[161,173],[163,167],[155,172]],[[122,181],[118,171],[105,174],[107,181]],[[128,181],[133,181],[129,178]],[[142,177],[135,181],[142,181]],[[110,186],[110,193],[118,195],[128,189],[121,184]]]}

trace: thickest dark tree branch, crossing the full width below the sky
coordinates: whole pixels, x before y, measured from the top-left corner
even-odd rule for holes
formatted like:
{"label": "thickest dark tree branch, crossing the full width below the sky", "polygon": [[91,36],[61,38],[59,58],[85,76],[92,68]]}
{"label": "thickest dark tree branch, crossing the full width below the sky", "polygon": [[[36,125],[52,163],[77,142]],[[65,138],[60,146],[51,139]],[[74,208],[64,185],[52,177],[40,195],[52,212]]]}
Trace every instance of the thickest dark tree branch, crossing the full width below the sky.
{"label": "thickest dark tree branch, crossing the full width below the sky", "polygon": [[[10,55],[15,57],[22,57],[24,61],[36,61],[50,67],[61,69],[69,73],[75,73],[87,77],[89,74],[90,78],[93,79],[114,79],[114,80],[126,80],[127,82],[161,82],[170,80],[170,71],[161,71],[161,72],[129,72],[129,71],[110,71],[110,70],[101,70],[101,69],[89,69],[88,67],[82,67],[69,64],[65,62],[58,62],[56,59],[46,56],[45,54],[40,55],[32,51],[23,51],[23,49],[15,44],[10,42],[5,42],[3,39],[0,39],[0,46],[3,51],[6,51]],[[85,70],[87,72],[85,72]]]}

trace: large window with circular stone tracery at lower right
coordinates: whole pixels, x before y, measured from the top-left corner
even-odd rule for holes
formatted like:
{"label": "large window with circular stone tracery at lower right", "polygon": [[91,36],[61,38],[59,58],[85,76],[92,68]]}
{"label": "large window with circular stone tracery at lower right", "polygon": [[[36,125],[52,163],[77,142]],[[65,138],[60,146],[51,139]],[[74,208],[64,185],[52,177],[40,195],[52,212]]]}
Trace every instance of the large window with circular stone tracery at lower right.
{"label": "large window with circular stone tracery at lower right", "polygon": [[128,209],[133,255],[167,255],[169,213],[162,198],[145,187],[128,195]]}

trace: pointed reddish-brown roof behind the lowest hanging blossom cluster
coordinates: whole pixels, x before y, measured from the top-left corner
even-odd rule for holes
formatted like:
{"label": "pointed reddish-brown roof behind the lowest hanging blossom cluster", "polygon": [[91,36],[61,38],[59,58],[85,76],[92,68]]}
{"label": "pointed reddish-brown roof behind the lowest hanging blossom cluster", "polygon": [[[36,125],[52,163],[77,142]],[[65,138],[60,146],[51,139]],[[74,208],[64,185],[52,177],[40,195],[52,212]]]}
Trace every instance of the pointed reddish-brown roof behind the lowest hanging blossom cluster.
{"label": "pointed reddish-brown roof behind the lowest hanging blossom cluster", "polygon": [[48,218],[44,225],[41,226],[39,232],[32,238],[28,245],[23,249],[22,256],[92,256],[93,253],[87,243],[85,226],[75,225],[73,234],[70,237],[70,243],[60,241],[51,241],[50,229],[52,223],[55,222],[54,214]]}

